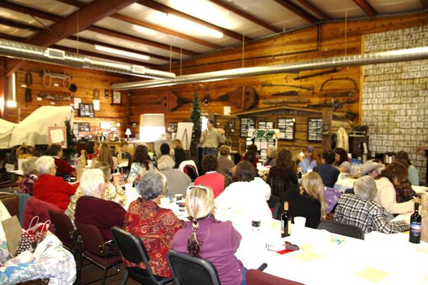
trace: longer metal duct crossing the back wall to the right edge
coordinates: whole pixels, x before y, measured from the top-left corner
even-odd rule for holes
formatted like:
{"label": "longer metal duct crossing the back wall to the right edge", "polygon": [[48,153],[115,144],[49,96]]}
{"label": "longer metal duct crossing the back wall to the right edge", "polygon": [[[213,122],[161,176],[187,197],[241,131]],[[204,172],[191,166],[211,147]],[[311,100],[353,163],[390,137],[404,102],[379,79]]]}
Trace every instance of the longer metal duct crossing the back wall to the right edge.
{"label": "longer metal duct crossing the back wall to the right edge", "polygon": [[407,60],[423,60],[425,58],[428,58],[428,47],[417,47],[414,49],[398,49],[394,51],[365,53],[362,55],[338,56],[335,58],[327,58],[325,60],[312,60],[309,62],[276,64],[270,66],[255,66],[246,67],[242,69],[227,69],[224,71],[212,71],[206,73],[181,75],[171,80],[145,80],[122,84],[112,84],[112,88],[114,90],[154,88],[161,86],[173,86],[185,83],[209,82],[254,75],[288,73],[295,71],[310,71],[314,69],[329,69],[333,67],[379,64],[386,62],[402,62]]}

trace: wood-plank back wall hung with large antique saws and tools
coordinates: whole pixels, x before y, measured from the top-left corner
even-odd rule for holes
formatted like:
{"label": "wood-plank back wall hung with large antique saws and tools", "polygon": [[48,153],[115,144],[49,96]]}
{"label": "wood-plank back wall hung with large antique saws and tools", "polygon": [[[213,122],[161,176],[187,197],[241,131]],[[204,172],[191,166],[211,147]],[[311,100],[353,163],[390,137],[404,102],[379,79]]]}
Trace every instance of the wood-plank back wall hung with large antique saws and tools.
{"label": "wood-plank back wall hung with large antique saws and tools", "polygon": [[[427,14],[416,16],[401,16],[395,18],[377,18],[370,21],[352,21],[347,24],[347,39],[345,51],[345,25],[344,23],[328,23],[324,25],[301,29],[289,34],[283,34],[264,40],[257,40],[245,44],[244,47],[244,66],[260,66],[269,64],[284,64],[292,62],[304,62],[309,60],[319,60],[331,58],[333,56],[342,56],[362,53],[362,36],[374,32],[383,32],[393,29],[403,29],[405,27],[416,27],[428,23]],[[169,66],[168,66],[169,67]],[[207,71],[218,71],[222,69],[234,69],[242,67],[242,49],[234,47],[224,49],[210,55],[201,56],[193,60],[179,64],[173,64],[173,72],[177,75],[201,73]],[[305,71],[300,75],[307,75],[318,71]],[[310,104],[331,102],[334,97],[323,97],[323,95],[333,92],[354,91],[352,97],[340,97],[342,100],[353,100],[355,103],[344,104],[341,112],[360,112],[359,102],[361,95],[361,74],[360,66],[351,66],[340,69],[338,73],[311,77],[307,79],[294,80],[297,74],[281,73],[276,75],[261,75],[253,77],[242,77],[228,79],[218,82],[203,82],[201,84],[183,84],[178,86],[148,88],[131,91],[131,106],[129,108],[129,120],[138,121],[140,114],[148,112],[164,112],[160,103],[160,97],[164,92],[175,92],[179,97],[192,101],[194,92],[197,92],[201,99],[206,92],[210,93],[212,103],[209,106],[203,106],[203,113],[215,112],[223,114],[223,106],[228,106],[227,102],[218,101],[221,95],[235,90],[238,86],[253,86],[259,94],[260,101],[256,108],[263,108],[268,105],[261,103],[263,99],[281,99],[281,98],[307,98]],[[349,78],[352,79],[357,88],[355,90],[350,81],[330,82],[325,86],[328,91],[321,91],[321,85],[331,78]],[[290,84],[296,86],[311,87],[314,86],[314,93],[308,90],[300,90],[286,86],[263,86],[263,84]],[[277,92],[286,92],[296,90],[299,95],[296,97],[272,97]],[[289,103],[288,106],[306,108],[308,103]],[[166,123],[175,123],[177,121],[188,121],[190,117],[191,103],[186,103],[173,112],[165,112]],[[236,106],[231,106],[231,112],[239,112]],[[303,120],[305,121],[305,120]],[[302,121],[302,122],[303,122]],[[299,121],[300,122],[300,121]],[[284,141],[281,145],[290,147],[300,147],[307,145],[306,138],[303,136],[306,132],[306,124],[298,123],[297,138],[299,142],[288,143]],[[135,130],[133,130],[135,132]]]}

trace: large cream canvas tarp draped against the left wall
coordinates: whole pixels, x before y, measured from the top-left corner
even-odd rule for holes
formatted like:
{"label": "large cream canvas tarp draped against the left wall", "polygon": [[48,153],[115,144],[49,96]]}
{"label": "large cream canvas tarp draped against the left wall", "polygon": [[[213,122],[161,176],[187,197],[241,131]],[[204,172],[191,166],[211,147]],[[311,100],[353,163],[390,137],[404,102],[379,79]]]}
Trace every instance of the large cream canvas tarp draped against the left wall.
{"label": "large cream canvas tarp draped against the left wall", "polygon": [[[9,148],[15,145],[48,145],[49,127],[65,127],[70,120],[73,126],[73,108],[70,106],[42,106],[29,114],[21,123],[15,124],[10,137]],[[8,122],[9,123],[9,122]]]}

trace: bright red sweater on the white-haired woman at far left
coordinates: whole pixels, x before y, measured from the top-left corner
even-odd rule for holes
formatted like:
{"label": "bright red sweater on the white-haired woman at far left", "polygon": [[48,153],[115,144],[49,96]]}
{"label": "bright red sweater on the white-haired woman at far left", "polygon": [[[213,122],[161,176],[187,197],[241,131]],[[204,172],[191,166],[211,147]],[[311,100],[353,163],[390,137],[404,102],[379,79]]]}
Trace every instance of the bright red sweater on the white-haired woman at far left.
{"label": "bright red sweater on the white-haired woman at far left", "polygon": [[50,174],[39,175],[33,185],[33,196],[49,203],[53,203],[61,210],[66,210],[70,203],[70,196],[76,192],[79,183],[70,185],[61,177]]}

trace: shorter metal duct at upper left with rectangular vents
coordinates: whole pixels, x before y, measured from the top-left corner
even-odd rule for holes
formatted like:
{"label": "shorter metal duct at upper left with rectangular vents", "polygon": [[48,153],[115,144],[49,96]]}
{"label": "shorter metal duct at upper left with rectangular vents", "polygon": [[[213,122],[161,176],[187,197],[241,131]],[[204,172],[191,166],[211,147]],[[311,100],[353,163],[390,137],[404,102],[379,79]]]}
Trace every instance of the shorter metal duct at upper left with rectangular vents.
{"label": "shorter metal duct at upper left with rectangular vents", "polygon": [[82,69],[96,69],[98,71],[110,71],[126,75],[139,77],[174,79],[175,73],[146,69],[144,66],[125,64],[123,62],[108,62],[105,60],[95,60],[77,53],[68,53],[60,49],[50,49],[49,47],[38,47],[22,42],[0,39],[0,55],[9,58],[20,58],[22,60],[32,60],[65,66],[75,66]]}

